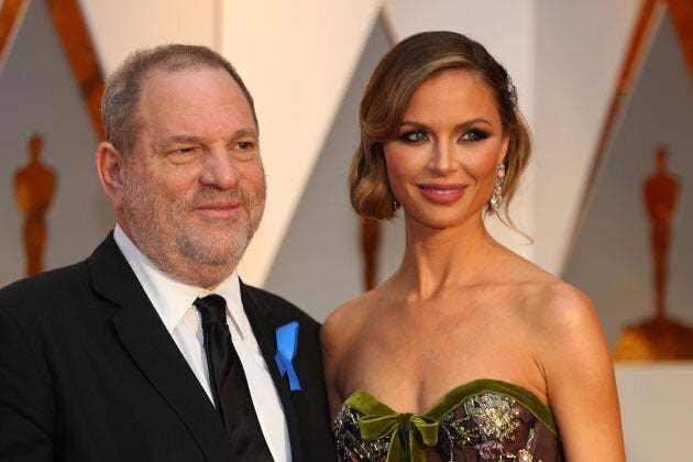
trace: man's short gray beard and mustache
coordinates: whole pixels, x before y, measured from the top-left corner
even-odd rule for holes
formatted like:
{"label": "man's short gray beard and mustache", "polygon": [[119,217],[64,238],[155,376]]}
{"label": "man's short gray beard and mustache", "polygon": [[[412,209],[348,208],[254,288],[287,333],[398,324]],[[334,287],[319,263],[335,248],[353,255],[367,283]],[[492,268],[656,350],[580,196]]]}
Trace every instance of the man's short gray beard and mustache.
{"label": "man's short gray beard and mustache", "polygon": [[[213,242],[206,242],[202,235],[191,234],[190,230],[184,227],[184,223],[177,221],[169,222],[170,227],[164,233],[164,227],[156,219],[156,200],[146,194],[146,187],[142,183],[132,179],[134,176],[131,173],[127,173],[127,177],[122,209],[123,216],[128,220],[128,228],[133,234],[132,239],[135,245],[160,267],[163,265],[165,268],[166,262],[175,260],[175,255],[166,254],[170,253],[170,250],[176,249],[193,264],[227,265],[230,270],[233,270],[241,261],[264,212],[264,197],[251,197],[245,190],[237,190],[229,194],[219,193],[210,188],[176,205],[178,212],[183,213],[183,210],[186,210],[190,204],[199,201],[200,197],[218,198],[220,195],[224,197],[240,197],[248,207],[250,217],[248,220],[233,221],[233,226],[237,227],[234,233],[237,239],[229,254],[216,246]],[[253,210],[255,213],[253,213]],[[223,226],[229,227],[229,223],[223,223]],[[173,248],[164,245],[164,239],[172,239]],[[152,249],[153,245],[158,246],[158,249]],[[165,254],[162,255],[162,252],[165,252]]]}

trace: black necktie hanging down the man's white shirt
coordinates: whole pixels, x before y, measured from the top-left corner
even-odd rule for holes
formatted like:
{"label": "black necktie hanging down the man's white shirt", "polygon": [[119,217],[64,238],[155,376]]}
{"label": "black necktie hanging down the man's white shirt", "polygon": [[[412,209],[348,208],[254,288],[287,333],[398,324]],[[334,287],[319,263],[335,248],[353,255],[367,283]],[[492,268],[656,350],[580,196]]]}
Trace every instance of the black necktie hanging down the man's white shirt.
{"label": "black necktie hanging down the man's white shirt", "polygon": [[239,359],[227,324],[227,301],[212,294],[194,304],[202,316],[209,382],[217,410],[229,433],[234,454],[241,461],[270,461],[272,454],[263,436]]}

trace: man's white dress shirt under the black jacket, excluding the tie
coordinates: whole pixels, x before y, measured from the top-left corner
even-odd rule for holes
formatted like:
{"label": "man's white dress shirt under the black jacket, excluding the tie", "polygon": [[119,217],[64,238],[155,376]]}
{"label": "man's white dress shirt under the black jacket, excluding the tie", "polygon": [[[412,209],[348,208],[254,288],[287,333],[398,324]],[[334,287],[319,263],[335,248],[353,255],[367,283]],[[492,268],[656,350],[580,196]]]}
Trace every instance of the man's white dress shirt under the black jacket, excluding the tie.
{"label": "man's white dress shirt under the black jacket, excluding the tie", "polygon": [[[158,270],[119,226],[116,227],[113,238],[180,353],[213,404],[201,318],[199,311],[193,306],[197,297],[209,295],[210,292],[185,284]],[[229,278],[219,284],[213,293],[227,300],[227,322],[231,339],[243,364],[260,427],[270,451],[275,461],[290,462],[292,449],[284,408],[243,310],[237,271],[234,270]]]}

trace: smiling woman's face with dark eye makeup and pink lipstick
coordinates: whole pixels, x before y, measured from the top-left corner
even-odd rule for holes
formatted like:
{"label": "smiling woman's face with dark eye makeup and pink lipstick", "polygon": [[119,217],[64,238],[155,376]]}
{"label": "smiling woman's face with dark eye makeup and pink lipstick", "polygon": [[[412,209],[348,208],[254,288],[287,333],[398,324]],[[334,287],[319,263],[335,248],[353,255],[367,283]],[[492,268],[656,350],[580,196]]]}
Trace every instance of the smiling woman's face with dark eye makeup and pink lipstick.
{"label": "smiling woman's face with dark eye makeup and pink lipstick", "polygon": [[436,74],[411,96],[398,136],[384,144],[395,199],[428,228],[481,224],[507,146],[487,87],[468,70]]}

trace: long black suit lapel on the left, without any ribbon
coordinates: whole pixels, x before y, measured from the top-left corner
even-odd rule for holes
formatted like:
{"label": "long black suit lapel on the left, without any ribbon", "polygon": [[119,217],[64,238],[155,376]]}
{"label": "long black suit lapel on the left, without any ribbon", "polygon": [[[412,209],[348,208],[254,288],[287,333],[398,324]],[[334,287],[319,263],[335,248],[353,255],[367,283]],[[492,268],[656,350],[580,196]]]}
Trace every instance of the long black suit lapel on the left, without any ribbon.
{"label": "long black suit lapel on the left, without any ribbon", "polygon": [[121,306],[113,326],[138,367],[188,427],[209,460],[230,460],[219,415],[173,341],[112,234],[87,261],[95,290]]}

